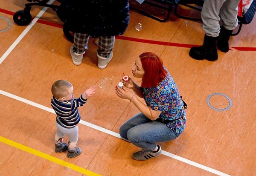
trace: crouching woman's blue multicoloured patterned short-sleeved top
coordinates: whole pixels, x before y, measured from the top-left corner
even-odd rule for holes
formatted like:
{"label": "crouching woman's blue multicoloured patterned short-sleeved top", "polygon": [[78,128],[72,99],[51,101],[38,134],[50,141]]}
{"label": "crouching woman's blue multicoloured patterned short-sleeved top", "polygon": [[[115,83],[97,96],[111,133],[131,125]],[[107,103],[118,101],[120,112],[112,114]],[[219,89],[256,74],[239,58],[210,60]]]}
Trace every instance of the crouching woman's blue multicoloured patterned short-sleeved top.
{"label": "crouching woman's blue multicoloured patterned short-sleeved top", "polygon": [[178,134],[183,132],[186,126],[186,111],[178,87],[168,71],[156,87],[143,88],[143,96],[152,110],[162,111],[159,118],[171,121],[166,124],[171,130]]}

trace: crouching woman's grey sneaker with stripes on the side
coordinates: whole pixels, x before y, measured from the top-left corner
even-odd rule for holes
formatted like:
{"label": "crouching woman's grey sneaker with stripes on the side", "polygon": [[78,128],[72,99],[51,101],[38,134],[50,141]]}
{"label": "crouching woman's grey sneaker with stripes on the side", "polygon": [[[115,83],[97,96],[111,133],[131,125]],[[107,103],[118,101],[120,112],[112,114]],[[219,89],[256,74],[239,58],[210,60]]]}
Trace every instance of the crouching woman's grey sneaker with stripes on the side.
{"label": "crouching woman's grey sneaker with stripes on the side", "polygon": [[132,155],[132,158],[135,160],[139,160],[139,161],[145,161],[145,160],[160,156],[162,153],[162,149],[161,149],[160,145],[157,145],[157,147],[158,147],[158,149],[155,152],[150,152],[150,151],[145,151],[145,150],[140,150],[138,152],[135,152]]}

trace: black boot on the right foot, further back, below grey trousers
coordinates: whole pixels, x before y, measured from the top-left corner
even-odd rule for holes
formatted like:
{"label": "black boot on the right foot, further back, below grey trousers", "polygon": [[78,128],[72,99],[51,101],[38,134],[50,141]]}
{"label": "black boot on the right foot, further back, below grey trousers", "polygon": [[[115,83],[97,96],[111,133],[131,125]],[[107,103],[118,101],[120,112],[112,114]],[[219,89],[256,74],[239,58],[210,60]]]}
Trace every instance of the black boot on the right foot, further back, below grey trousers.
{"label": "black boot on the right foot, further back, below grey trousers", "polygon": [[230,35],[232,34],[233,30],[225,29],[223,26],[221,26],[221,32],[218,36],[218,49],[221,52],[228,52],[229,50],[229,44],[228,40],[230,39]]}

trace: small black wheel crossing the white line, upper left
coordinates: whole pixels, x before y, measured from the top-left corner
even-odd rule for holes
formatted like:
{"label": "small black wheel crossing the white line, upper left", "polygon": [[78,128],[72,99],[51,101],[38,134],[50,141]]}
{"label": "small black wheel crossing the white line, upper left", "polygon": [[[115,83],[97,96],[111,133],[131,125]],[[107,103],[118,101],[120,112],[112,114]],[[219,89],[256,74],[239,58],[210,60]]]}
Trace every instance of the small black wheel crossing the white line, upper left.
{"label": "small black wheel crossing the white line, upper left", "polygon": [[13,15],[13,20],[19,26],[26,26],[31,22],[32,16],[30,14],[30,11],[18,10]]}

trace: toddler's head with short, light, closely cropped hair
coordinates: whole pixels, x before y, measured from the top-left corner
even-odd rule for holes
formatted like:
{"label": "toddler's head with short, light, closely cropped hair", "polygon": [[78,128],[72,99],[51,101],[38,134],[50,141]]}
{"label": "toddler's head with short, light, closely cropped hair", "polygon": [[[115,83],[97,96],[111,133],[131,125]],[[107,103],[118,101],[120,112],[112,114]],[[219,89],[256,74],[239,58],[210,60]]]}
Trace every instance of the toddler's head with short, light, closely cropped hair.
{"label": "toddler's head with short, light, closely cropped hair", "polygon": [[74,98],[73,86],[65,80],[58,80],[52,84],[52,95],[58,100],[69,101]]}

